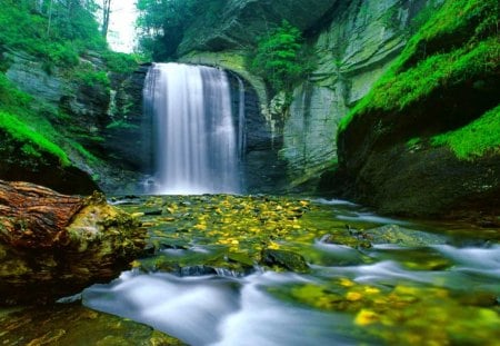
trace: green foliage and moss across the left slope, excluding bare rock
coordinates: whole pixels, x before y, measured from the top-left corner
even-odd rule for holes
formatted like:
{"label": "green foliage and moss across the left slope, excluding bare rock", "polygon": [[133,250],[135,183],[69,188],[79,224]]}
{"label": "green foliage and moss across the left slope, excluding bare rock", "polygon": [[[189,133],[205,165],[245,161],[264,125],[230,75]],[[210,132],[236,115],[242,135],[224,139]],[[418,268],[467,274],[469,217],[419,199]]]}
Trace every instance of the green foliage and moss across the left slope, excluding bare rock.
{"label": "green foliage and moss across the left slope, excluding bare rock", "polygon": [[[19,142],[28,157],[42,158],[48,152],[68,166],[68,154],[72,154],[76,160],[81,157],[96,164],[98,159],[78,141],[101,141],[102,137],[86,135],[87,129],[71,125],[81,121],[71,119],[63,107],[19,90],[4,72],[19,56],[67,80],[63,87],[76,82],[109,91],[109,72],[130,73],[138,58],[108,49],[96,20],[100,9],[97,1],[0,0],[0,131]],[[104,65],[93,62],[99,60]],[[67,92],[71,97],[76,90]]]}

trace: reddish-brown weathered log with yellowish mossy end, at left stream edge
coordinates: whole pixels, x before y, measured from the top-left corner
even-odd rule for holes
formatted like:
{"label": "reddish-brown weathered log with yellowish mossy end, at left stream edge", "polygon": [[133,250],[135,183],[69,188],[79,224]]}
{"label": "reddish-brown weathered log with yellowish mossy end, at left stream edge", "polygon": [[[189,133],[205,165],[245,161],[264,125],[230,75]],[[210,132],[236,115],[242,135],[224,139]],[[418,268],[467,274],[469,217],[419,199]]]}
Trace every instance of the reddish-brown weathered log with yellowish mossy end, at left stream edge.
{"label": "reddish-brown weathered log with yellowish mossy end, at left stream edge", "polygon": [[144,238],[140,223],[99,192],[81,198],[0,180],[0,304],[49,303],[109,281]]}

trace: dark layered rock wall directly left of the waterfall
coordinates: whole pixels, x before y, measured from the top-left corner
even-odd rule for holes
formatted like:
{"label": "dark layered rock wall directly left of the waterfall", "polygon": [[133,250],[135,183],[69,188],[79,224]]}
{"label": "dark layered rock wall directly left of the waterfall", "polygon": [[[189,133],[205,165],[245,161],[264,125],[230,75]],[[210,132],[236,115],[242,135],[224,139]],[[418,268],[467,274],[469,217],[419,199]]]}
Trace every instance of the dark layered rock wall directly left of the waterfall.
{"label": "dark layered rock wall directly left of the waterfall", "polygon": [[97,53],[80,58],[79,67],[87,68],[83,72],[48,69],[22,51],[4,52],[0,60],[7,61],[7,79],[32,98],[30,107],[38,113],[34,118],[43,126],[31,123],[33,134],[46,134],[48,127],[57,131],[58,139],[49,139],[69,160],[61,165],[60,158],[43,150],[41,156],[28,155],[21,148],[29,141],[0,131],[4,144],[0,148],[1,178],[42,184],[67,194],[89,194],[98,188],[133,190],[127,184],[137,180],[136,171],[146,165],[138,145],[142,140],[146,69],[109,72]]}

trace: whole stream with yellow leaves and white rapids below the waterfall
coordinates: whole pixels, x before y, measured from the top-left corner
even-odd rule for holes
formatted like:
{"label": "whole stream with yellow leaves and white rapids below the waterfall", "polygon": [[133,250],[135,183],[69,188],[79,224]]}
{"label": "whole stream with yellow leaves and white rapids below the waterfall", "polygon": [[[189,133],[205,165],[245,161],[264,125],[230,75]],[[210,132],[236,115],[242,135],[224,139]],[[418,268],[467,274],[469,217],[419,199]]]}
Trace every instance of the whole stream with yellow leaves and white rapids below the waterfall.
{"label": "whole stream with yellow leaves and white rapids below the waterfall", "polygon": [[[117,204],[144,211],[151,255],[84,290],[83,304],[188,344],[500,339],[499,229],[396,220],[338,200],[170,196]],[[157,209],[161,216],[149,212]],[[266,251],[300,254],[307,268],[292,257],[266,260]]]}

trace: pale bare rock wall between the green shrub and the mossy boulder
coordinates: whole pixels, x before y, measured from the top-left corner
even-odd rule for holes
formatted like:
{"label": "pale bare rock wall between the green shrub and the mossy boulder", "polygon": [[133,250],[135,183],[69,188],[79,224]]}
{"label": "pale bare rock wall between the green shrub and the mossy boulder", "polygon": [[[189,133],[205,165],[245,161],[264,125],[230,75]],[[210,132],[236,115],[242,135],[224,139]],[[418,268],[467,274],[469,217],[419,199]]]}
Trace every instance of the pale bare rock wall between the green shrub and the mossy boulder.
{"label": "pale bare rock wall between the green shrub and the mossy boulder", "polygon": [[293,184],[337,161],[338,123],[388,69],[426,1],[343,2],[313,40],[318,67],[293,92],[281,156]]}

